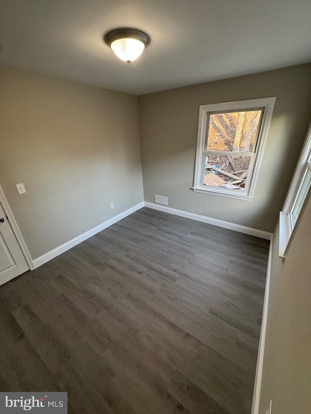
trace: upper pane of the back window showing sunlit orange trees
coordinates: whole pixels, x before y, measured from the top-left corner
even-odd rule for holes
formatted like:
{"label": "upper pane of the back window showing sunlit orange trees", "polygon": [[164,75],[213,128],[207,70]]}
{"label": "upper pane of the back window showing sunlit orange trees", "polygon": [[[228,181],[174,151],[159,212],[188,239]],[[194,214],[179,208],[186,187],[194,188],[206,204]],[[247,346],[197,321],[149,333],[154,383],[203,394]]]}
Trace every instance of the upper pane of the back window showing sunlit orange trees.
{"label": "upper pane of the back window showing sunlit orange trees", "polygon": [[209,116],[207,151],[253,152],[262,110]]}

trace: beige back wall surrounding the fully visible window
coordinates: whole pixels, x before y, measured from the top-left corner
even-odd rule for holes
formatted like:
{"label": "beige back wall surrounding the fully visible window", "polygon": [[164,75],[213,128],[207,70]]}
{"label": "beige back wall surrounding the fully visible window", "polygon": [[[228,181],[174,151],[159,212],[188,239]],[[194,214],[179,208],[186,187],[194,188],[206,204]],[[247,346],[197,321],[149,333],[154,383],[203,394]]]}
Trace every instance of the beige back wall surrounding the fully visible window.
{"label": "beige back wall surrounding the fully visible window", "polygon": [[[276,96],[254,199],[194,193],[199,105]],[[145,201],[273,232],[311,119],[311,65],[139,97]]]}

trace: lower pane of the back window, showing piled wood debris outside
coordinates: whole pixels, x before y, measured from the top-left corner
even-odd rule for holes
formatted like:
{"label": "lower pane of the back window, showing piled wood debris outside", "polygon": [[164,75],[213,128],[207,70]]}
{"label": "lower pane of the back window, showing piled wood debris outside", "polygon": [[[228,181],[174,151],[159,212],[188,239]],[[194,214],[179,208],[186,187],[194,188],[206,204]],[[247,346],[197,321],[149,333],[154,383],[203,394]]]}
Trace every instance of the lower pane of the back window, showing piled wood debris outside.
{"label": "lower pane of the back window, showing piled wood debris outside", "polygon": [[206,155],[203,184],[244,191],[251,157]]}

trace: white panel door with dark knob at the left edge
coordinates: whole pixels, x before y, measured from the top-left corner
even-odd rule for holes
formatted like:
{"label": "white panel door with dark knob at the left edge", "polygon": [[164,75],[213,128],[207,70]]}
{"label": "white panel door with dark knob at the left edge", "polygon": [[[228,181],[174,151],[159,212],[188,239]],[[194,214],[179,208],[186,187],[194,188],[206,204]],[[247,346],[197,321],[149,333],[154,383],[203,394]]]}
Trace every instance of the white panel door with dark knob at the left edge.
{"label": "white panel door with dark knob at the left edge", "polygon": [[8,282],[29,267],[0,204],[0,284]]}

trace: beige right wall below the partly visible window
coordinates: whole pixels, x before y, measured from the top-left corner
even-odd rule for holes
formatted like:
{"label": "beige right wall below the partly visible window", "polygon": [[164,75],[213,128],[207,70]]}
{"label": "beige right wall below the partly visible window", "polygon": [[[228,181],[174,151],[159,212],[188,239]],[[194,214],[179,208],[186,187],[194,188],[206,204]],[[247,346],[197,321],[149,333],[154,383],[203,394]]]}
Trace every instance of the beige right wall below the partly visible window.
{"label": "beige right wall below the partly visible window", "polygon": [[273,414],[311,412],[311,199],[285,262],[272,250],[268,321],[260,409]]}

